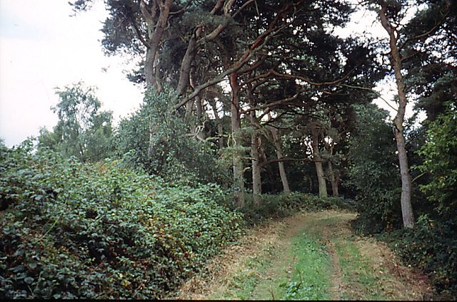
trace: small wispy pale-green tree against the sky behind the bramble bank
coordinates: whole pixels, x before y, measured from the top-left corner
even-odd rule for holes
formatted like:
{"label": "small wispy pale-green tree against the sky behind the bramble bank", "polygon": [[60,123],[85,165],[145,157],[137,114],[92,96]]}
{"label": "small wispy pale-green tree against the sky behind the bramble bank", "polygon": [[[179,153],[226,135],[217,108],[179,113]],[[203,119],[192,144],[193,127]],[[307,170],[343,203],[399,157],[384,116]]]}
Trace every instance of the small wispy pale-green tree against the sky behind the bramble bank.
{"label": "small wispy pale-green tree against the sky behind the bramble bank", "polygon": [[95,162],[112,155],[112,114],[100,112],[101,103],[95,88],[76,83],[56,91],[59,95],[54,113],[59,122],[53,132],[41,128],[39,147],[49,147],[64,157]]}

